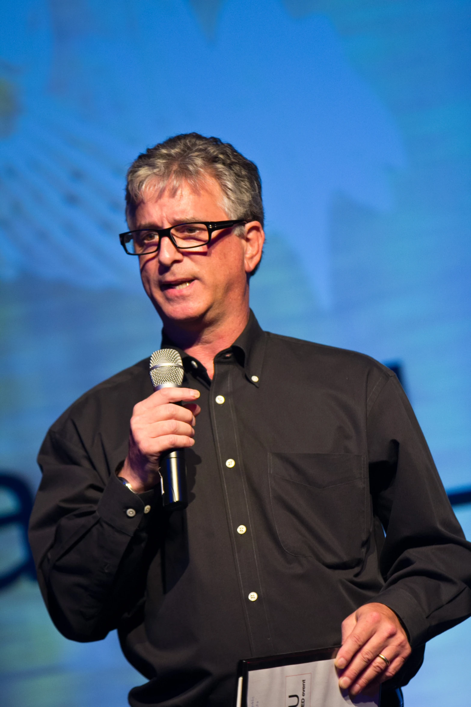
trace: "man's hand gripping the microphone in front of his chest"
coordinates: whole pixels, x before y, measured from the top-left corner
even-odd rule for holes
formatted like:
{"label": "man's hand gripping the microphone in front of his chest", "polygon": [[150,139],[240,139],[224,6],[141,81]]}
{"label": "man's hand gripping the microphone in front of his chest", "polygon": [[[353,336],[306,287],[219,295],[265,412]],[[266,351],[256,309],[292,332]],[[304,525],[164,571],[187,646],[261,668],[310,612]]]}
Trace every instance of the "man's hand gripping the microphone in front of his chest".
{"label": "man's hand gripping the microphone in front of his chest", "polygon": [[136,493],[160,484],[162,452],[195,443],[194,425],[201,408],[192,401],[199,395],[192,388],[162,388],[134,406],[129,452],[118,476],[129,481]]}

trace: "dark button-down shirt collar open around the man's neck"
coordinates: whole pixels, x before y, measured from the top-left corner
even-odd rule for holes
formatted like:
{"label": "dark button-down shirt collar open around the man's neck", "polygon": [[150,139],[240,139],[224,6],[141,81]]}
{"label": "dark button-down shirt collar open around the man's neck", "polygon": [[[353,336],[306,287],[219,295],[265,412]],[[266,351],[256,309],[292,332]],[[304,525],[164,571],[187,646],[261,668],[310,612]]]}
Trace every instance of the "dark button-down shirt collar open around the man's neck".
{"label": "dark button-down shirt collar open around the man's neck", "polygon": [[[239,337],[237,337],[234,344],[229,346],[229,349],[232,349],[237,361],[240,363],[242,368],[244,368],[246,379],[256,387],[260,385],[260,380],[262,377],[261,370],[263,365],[263,355],[265,353],[265,344],[266,334],[258,324],[254,312],[250,310],[249,321],[247,322],[244,331]],[[185,351],[182,351],[179,346],[174,344],[172,339],[167,336],[165,329],[162,329],[162,344],[160,344],[160,346],[162,349],[176,349],[179,352],[186,373],[193,373],[193,375],[195,375],[198,373],[198,368],[202,369],[200,373],[205,371],[199,361],[196,361],[195,358],[191,358],[189,354],[186,354]],[[228,351],[229,349],[224,350]],[[197,367],[195,367],[192,362],[196,363]]]}

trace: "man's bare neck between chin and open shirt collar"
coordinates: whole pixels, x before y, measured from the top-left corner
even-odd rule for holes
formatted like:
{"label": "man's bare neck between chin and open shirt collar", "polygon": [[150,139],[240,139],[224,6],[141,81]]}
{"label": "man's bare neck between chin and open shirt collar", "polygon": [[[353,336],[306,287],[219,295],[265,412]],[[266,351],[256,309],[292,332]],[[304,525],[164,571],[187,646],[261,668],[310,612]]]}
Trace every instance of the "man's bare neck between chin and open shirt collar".
{"label": "man's bare neck between chin and open shirt collar", "polygon": [[237,315],[227,317],[222,322],[206,325],[197,331],[179,327],[175,322],[166,322],[165,332],[186,354],[197,358],[205,366],[209,378],[213,380],[214,357],[234,344],[244,331],[249,321],[249,314],[250,310],[247,308]]}

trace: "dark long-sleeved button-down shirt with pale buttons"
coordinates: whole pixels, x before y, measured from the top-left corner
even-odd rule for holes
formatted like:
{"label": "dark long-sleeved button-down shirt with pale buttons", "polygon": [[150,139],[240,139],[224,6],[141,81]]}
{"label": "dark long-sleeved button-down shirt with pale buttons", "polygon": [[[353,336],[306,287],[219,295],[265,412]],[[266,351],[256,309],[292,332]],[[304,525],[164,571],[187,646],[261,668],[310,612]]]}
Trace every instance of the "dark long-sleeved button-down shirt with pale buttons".
{"label": "dark long-sleeved button-down shirt with pale buttons", "polygon": [[471,613],[471,552],[395,375],[254,315],[212,381],[181,355],[201,392],[185,511],[115,474],[133,405],[153,392],[148,359],[44,440],[30,538],[58,629],[118,628],[150,681],[133,706],[228,707],[239,659],[338,645],[342,619],[378,601],[416,648],[407,681],[420,646]]}

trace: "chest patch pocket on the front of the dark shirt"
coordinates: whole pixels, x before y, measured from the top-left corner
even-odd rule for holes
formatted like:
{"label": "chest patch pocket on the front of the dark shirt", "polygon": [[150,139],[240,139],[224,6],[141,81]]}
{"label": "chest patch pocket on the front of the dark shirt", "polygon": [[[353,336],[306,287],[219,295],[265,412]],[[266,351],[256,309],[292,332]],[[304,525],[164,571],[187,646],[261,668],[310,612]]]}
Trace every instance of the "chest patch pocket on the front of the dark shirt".
{"label": "chest patch pocket on the front of the dark shirt", "polygon": [[270,496],[286,552],[330,568],[364,559],[366,463],[361,455],[271,452]]}

